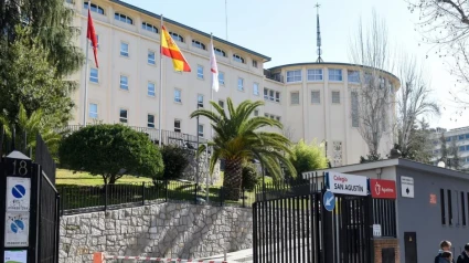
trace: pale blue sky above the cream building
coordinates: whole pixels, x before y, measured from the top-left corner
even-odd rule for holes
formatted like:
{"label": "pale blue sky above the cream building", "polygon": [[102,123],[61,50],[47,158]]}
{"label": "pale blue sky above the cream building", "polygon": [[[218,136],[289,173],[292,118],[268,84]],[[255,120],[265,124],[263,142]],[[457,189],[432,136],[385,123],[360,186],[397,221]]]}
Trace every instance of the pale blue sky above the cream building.
{"label": "pale blue sky above the cream building", "polygon": [[[264,65],[266,69],[317,60],[316,3],[321,4],[322,59],[350,63],[350,39],[356,32],[360,18],[364,24],[371,21],[374,9],[386,21],[393,50],[415,55],[425,67],[434,91],[433,99],[441,108],[440,116],[426,116],[430,126],[447,129],[469,126],[469,117],[456,114],[448,93],[456,80],[445,61],[435,54],[435,48],[420,43],[422,35],[415,31],[418,12],[411,13],[405,0],[226,0],[227,12],[225,0],[125,1],[270,56],[271,61]],[[469,116],[469,112],[465,114]]]}

